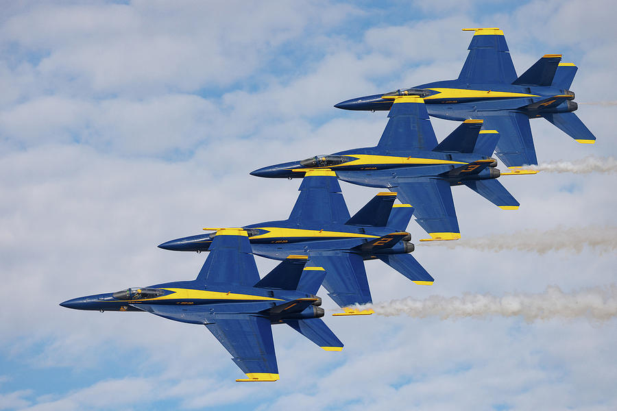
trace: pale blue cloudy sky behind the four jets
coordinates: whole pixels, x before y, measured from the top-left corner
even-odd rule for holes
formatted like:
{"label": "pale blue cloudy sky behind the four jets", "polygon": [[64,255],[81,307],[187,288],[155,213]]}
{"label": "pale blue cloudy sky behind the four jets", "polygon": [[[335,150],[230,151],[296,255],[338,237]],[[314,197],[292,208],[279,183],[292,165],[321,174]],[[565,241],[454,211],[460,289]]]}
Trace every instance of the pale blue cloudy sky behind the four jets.
{"label": "pale blue cloudy sky behind the four jets", "polygon": [[[615,319],[326,315],[346,345],[341,353],[274,327],[280,381],[238,384],[242,374],[202,327],[58,306],[192,279],[204,254],[156,245],[201,227],[285,218],[299,182],[248,173],[374,144],[385,113],[332,105],[457,77],[470,41],[463,27],[503,29],[519,74],[545,53],[579,66],[577,114],[598,142],[578,145],[534,120],[540,162],[615,157],[615,8],[450,0],[6,5],[0,410],[616,409]],[[433,126],[441,140],[456,124]],[[524,230],[589,235],[616,226],[614,174],[501,181],[520,210],[455,188],[464,237],[520,241]],[[352,213],[375,193],[341,186]],[[413,222],[409,232],[425,235]],[[432,287],[376,262],[367,262],[367,274],[376,302],[615,284],[614,247],[580,244],[547,253],[418,245]],[[258,259],[262,273],[274,265]]]}

